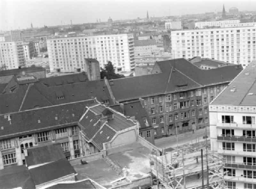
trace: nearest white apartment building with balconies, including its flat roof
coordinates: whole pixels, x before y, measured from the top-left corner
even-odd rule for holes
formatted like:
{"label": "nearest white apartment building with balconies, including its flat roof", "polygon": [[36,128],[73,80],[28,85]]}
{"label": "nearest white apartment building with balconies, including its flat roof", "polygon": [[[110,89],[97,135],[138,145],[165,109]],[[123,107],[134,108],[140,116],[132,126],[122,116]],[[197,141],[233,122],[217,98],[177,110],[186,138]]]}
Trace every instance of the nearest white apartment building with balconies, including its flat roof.
{"label": "nearest white apartment building with balconies, including its flat roof", "polygon": [[209,105],[211,150],[224,156],[230,189],[256,188],[255,66],[253,61]]}

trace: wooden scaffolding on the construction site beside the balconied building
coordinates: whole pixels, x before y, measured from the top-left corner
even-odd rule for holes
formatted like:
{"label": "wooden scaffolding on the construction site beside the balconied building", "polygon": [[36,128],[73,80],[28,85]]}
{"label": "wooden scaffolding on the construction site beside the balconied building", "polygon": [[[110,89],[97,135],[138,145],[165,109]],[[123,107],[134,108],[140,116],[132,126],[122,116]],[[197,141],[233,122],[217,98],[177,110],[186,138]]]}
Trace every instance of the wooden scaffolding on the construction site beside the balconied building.
{"label": "wooden scaffolding on the construction site beside the balconied building", "polygon": [[165,189],[222,189],[223,156],[209,150],[209,145],[196,143],[180,146],[161,156],[150,155],[153,183]]}

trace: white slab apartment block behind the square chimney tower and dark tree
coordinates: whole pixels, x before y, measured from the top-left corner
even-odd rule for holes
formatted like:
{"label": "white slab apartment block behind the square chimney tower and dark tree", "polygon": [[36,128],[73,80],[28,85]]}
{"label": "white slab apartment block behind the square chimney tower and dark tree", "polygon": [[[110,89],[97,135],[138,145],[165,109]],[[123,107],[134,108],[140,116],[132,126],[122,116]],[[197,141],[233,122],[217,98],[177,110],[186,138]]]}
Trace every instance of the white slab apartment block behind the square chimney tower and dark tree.
{"label": "white slab apartment block behind the square chimney tower and dark tree", "polygon": [[77,36],[47,39],[51,72],[86,71],[84,58],[95,58],[100,67],[111,61],[116,72],[135,67],[132,34]]}

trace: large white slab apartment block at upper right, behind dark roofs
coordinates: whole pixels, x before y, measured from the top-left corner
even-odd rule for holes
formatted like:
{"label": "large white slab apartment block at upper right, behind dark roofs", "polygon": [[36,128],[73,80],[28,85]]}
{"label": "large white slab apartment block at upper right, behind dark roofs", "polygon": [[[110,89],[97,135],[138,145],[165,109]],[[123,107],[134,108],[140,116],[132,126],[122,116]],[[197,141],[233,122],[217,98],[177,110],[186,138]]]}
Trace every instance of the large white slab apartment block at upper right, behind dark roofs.
{"label": "large white slab apartment block at upper right, behind dark roofs", "polygon": [[256,59],[256,27],[212,28],[171,32],[173,58],[211,58],[247,66]]}

